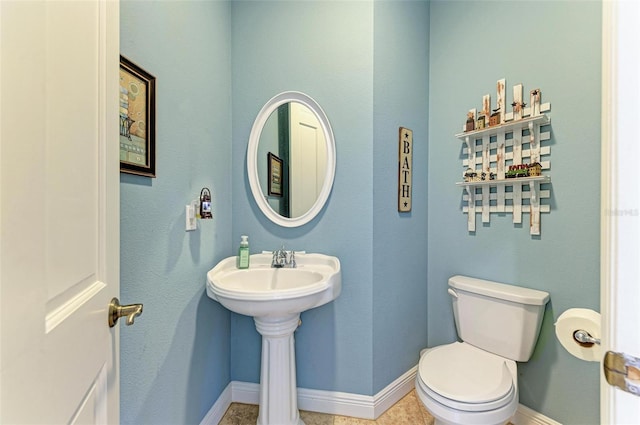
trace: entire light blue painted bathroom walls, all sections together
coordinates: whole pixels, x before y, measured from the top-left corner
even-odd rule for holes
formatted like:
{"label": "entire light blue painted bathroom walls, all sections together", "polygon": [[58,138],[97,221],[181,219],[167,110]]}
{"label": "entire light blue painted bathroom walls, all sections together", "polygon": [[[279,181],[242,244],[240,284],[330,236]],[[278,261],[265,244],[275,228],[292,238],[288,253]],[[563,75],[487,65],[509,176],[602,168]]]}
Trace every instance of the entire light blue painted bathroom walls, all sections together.
{"label": "entire light blue painted bathroom walls, all sections together", "polygon": [[[465,273],[551,293],[521,402],[597,423],[597,365],[567,354],[553,321],[599,304],[600,19],[596,2],[122,1],[121,52],[158,77],[158,178],[121,178],[121,300],[145,304],[121,333],[122,423],[198,423],[230,380],[258,382],[253,320],[204,293],[245,233],[252,252],[342,260],[342,295],[296,332],[300,387],[375,394],[453,341],[446,279]],[[552,104],[540,238],[499,215],[470,235],[453,185],[453,134],[502,77],[508,98],[522,82]],[[296,229],[266,220],[246,179],[253,120],[285,90],[322,105],[338,155],[326,208]],[[414,131],[410,214],[396,209],[399,126]],[[203,186],[214,219],[186,233]]]}

